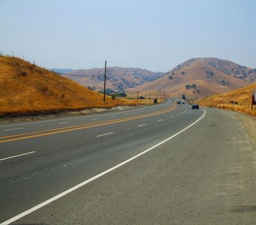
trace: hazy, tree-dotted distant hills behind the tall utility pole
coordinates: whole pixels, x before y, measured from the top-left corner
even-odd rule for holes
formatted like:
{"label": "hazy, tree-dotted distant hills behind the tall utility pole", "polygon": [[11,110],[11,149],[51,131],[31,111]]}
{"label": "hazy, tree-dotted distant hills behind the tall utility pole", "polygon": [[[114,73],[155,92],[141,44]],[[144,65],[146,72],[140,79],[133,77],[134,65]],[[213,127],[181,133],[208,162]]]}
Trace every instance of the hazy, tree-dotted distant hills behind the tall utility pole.
{"label": "hazy, tree-dotted distant hills behind the tall utility pole", "polygon": [[[70,72],[73,75],[67,76],[84,87],[91,87],[95,90],[102,90],[104,87],[104,68],[77,69]],[[107,67],[107,87],[113,90],[123,90],[160,78],[163,74],[154,73],[140,68]]]}

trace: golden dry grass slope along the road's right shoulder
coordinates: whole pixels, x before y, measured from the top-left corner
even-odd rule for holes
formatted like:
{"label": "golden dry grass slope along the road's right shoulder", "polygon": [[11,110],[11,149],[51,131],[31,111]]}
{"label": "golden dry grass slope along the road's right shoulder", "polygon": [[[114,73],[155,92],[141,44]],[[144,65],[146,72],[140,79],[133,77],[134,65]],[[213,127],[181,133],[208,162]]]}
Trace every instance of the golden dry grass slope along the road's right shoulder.
{"label": "golden dry grass slope along the road's right shoulder", "polygon": [[[208,107],[217,107],[219,109],[232,110],[256,116],[256,106],[253,105],[253,109],[251,109],[251,95],[255,89],[256,84],[253,83],[228,93],[201,98],[196,102]],[[231,104],[230,101],[235,101],[238,105]]]}

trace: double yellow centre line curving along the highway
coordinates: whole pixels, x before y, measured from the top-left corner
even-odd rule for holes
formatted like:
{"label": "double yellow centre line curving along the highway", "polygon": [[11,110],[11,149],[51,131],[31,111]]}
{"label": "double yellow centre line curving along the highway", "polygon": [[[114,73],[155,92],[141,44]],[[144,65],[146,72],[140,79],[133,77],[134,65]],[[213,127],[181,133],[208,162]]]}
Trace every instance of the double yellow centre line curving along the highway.
{"label": "double yellow centre line curving along the highway", "polygon": [[51,134],[59,134],[62,132],[77,131],[77,130],[81,130],[81,129],[87,129],[90,127],[100,127],[100,126],[108,125],[108,124],[112,124],[112,123],[120,123],[120,122],[129,121],[129,120],[136,120],[136,119],[145,118],[145,117],[149,117],[149,116],[155,116],[158,114],[168,113],[169,111],[172,111],[175,107],[176,107],[176,104],[174,104],[171,107],[164,109],[162,111],[158,111],[156,113],[148,113],[148,114],[141,115],[141,116],[131,116],[128,118],[123,118],[123,119],[109,120],[107,122],[87,123],[87,124],[76,125],[76,126],[71,126],[71,127],[50,129],[50,130],[46,130],[46,131],[37,131],[37,132],[29,132],[29,133],[24,133],[24,134],[16,134],[16,135],[12,135],[12,136],[3,136],[3,137],[0,137],[0,143],[5,143],[8,141],[23,140],[23,139],[28,139],[28,138],[37,138],[37,137],[41,137],[41,136],[48,136]]}

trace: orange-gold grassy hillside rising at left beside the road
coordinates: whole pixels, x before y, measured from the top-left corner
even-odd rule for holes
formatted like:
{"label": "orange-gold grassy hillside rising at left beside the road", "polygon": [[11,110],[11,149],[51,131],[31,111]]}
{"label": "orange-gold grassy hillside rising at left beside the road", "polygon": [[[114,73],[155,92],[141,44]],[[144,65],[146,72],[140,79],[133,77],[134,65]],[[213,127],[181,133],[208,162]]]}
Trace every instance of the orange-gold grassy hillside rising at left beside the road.
{"label": "orange-gold grassy hillside rising at left beside the road", "polygon": [[[5,63],[6,62],[6,63]],[[0,57],[0,115],[134,105],[113,101],[60,75],[15,57]]]}

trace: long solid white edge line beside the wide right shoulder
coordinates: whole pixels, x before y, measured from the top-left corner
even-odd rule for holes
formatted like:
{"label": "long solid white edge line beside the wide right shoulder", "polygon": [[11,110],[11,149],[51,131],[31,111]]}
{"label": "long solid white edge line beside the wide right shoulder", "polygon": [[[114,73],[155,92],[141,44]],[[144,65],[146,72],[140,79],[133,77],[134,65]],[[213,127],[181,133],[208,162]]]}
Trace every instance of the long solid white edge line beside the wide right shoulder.
{"label": "long solid white edge line beside the wide right shoulder", "polygon": [[[201,109],[201,110],[205,111],[205,109]],[[205,111],[205,113],[206,113],[206,111]],[[82,182],[82,183],[80,183],[80,184],[78,184],[78,185],[76,185],[76,186],[73,186],[73,188],[69,188],[69,189],[66,190],[65,192],[62,192],[62,193],[60,193],[59,195],[56,195],[55,197],[52,197],[51,199],[48,199],[48,200],[44,201],[43,203],[38,204],[37,206],[34,206],[33,208],[30,208],[29,210],[26,210],[25,212],[20,213],[19,215],[16,215],[15,217],[12,217],[11,219],[8,219],[8,221],[2,222],[0,225],[8,225],[8,224],[10,224],[10,223],[12,223],[12,222],[14,222],[14,221],[17,221],[18,219],[21,219],[22,217],[24,217],[24,216],[26,216],[26,215],[28,215],[28,214],[30,214],[30,213],[32,213],[32,212],[35,212],[35,210],[38,210],[39,208],[42,208],[43,206],[46,206],[47,204],[52,203],[53,201],[59,199],[60,197],[63,197],[64,195],[67,195],[67,194],[69,194],[70,192],[73,192],[74,190],[77,190],[77,189],[80,188],[81,186],[84,186],[84,185],[86,185],[87,183],[90,183],[91,181],[94,181],[94,180],[97,179],[98,177],[102,177],[102,176],[104,176],[105,174],[108,174],[109,172],[115,170],[116,168],[122,167],[122,165],[125,165],[126,163],[129,163],[130,161],[133,161],[133,159],[136,159],[136,158],[138,158],[139,156],[142,156],[143,154],[149,152],[150,150],[155,149],[156,147],[158,147],[158,146],[162,145],[163,143],[165,143],[166,141],[169,141],[170,139],[176,137],[176,136],[179,135],[181,132],[186,131],[188,128],[192,127],[194,124],[196,124],[197,122],[199,122],[199,120],[201,120],[201,118],[203,118],[203,117],[205,116],[205,113],[204,113],[202,116],[200,116],[200,118],[197,119],[196,122],[191,123],[191,124],[190,124],[188,127],[186,127],[185,129],[183,129],[183,130],[179,131],[178,133],[176,133],[176,134],[170,136],[169,138],[167,138],[167,139],[161,141],[161,142],[158,143],[157,145],[154,145],[153,147],[151,147],[151,148],[149,148],[149,149],[147,149],[147,150],[145,150],[145,151],[143,151],[143,152],[140,152],[140,154],[137,154],[136,156],[133,156],[132,158],[127,159],[127,160],[123,161],[122,163],[120,163],[120,164],[118,164],[118,165],[116,165],[116,166],[114,166],[114,167],[112,167],[112,168],[109,168],[108,170],[105,170],[104,172],[102,172],[102,173],[100,173],[100,174],[98,174],[98,175],[96,175],[96,176],[94,176],[94,177],[91,177],[90,179],[87,179],[86,181],[84,181],[84,182]]]}

